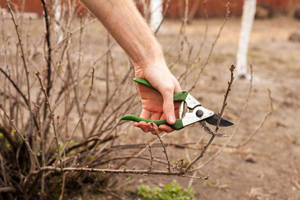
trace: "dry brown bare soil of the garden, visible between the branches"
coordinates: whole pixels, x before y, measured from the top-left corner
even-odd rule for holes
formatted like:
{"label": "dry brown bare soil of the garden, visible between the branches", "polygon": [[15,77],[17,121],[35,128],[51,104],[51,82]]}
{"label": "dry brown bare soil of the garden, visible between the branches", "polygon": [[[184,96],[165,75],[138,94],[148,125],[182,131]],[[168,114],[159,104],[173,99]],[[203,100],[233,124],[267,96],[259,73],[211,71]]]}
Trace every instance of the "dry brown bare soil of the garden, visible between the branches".
{"label": "dry brown bare soil of the garden, visible between the branches", "polygon": [[[208,32],[201,51],[201,59],[193,65],[195,73],[186,78],[181,85],[182,88],[189,88],[193,83],[197,71],[209,53],[222,20],[222,18],[216,18],[207,21]],[[203,19],[193,20],[186,27],[187,40],[193,45],[194,51],[199,48],[203,39],[205,23]],[[43,22],[41,19],[32,20],[31,25],[35,30],[32,33],[42,33]],[[175,38],[179,28],[180,21],[165,20],[158,34],[158,40],[165,50],[168,63],[174,60],[177,53],[179,45],[176,44]],[[219,110],[222,105],[223,93],[229,79],[228,67],[235,62],[239,28],[240,18],[230,18],[214,46],[208,65],[198,80],[196,88],[191,91],[191,94],[202,105],[214,111]],[[300,43],[288,40],[290,33],[299,29],[300,21],[292,17],[280,16],[254,21],[248,52],[248,62],[253,65],[253,91],[246,113],[242,117],[240,127],[231,144],[245,140],[247,135],[259,125],[263,115],[269,109],[267,88],[271,90],[274,111],[247,145],[239,149],[225,148],[212,162],[201,169],[201,174],[203,176],[209,174],[209,178],[208,180],[193,180],[192,187],[197,199],[300,199],[300,123],[298,122],[300,114]],[[105,31],[97,22],[87,26],[84,34],[83,54],[84,61],[88,62],[105,49]],[[171,48],[172,46],[175,47]],[[127,57],[120,47],[112,48],[112,56],[115,66],[124,66],[117,70],[126,69]],[[172,68],[174,75],[185,70],[186,60],[187,52]],[[96,76],[103,76],[103,74],[101,71],[96,71]],[[99,78],[99,80],[101,79]],[[101,83],[97,87],[103,89]],[[237,122],[248,87],[248,78],[238,79],[236,77],[234,79],[224,118],[234,123]],[[97,100],[95,97],[91,99]],[[87,109],[91,114],[87,119],[92,119],[94,108],[87,106]],[[234,128],[235,126],[220,128],[220,131],[231,134]],[[132,126],[119,139],[120,143],[140,143],[153,138],[155,136],[145,134]],[[164,137],[164,141],[193,142],[199,138],[208,140],[209,135],[195,124],[192,127],[168,134]],[[219,144],[225,141],[226,138],[214,140]],[[167,149],[172,162],[187,155],[192,159],[199,153],[199,150],[184,151],[182,148],[173,147],[167,147]],[[210,147],[200,160],[205,161],[217,149],[217,147]],[[163,159],[160,148],[155,148],[153,155]],[[127,168],[136,166],[136,168],[144,169],[148,165],[148,161],[132,160],[127,164]],[[157,163],[154,164],[154,168],[163,169]],[[119,183],[127,182],[119,190],[121,193],[135,190],[141,183],[159,186],[176,179],[180,185],[187,187],[189,182],[188,178],[177,176],[119,175],[115,178]],[[128,182],[126,178],[131,178],[132,181]],[[78,195],[76,199],[107,199],[110,197],[103,198],[102,195],[87,193]]]}

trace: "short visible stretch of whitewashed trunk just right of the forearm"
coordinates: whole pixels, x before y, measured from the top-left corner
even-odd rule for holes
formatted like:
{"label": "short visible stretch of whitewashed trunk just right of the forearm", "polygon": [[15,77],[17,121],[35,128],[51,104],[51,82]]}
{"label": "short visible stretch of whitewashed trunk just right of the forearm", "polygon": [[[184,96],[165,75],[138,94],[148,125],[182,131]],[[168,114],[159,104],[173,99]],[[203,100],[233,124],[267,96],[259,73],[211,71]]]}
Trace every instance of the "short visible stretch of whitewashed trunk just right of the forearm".
{"label": "short visible stretch of whitewashed trunk just right of the forearm", "polygon": [[155,30],[162,20],[163,0],[150,0],[150,28]]}

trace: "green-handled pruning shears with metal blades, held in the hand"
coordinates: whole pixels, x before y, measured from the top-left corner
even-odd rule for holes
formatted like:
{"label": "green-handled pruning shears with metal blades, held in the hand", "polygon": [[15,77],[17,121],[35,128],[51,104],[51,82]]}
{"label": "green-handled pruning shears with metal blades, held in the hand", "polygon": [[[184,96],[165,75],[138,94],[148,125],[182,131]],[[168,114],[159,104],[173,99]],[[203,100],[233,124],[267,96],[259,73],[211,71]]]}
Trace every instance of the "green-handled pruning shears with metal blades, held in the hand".
{"label": "green-handled pruning shears with metal blades, held in the hand", "polygon": [[[133,81],[146,85],[152,89],[155,89],[158,91],[156,88],[154,88],[147,80],[142,79],[142,78],[133,78]],[[200,126],[209,134],[219,136],[219,137],[227,137],[229,135],[225,134],[220,134],[218,132],[215,132],[212,130],[207,123],[216,126],[217,125],[217,120],[218,120],[218,115],[214,113],[214,111],[207,109],[206,107],[203,107],[199,101],[197,101],[188,91],[182,90],[179,92],[174,93],[173,95],[173,100],[174,101],[180,101],[181,104],[179,106],[179,118],[175,120],[174,124],[168,124],[165,119],[160,119],[160,120],[150,120],[150,119],[144,119],[136,115],[132,114],[127,114],[121,117],[121,120],[131,120],[131,121],[145,121],[145,122],[153,122],[157,126],[165,124],[170,127],[172,127],[175,130],[179,130],[184,128],[185,126],[192,125],[196,122],[200,124]],[[186,104],[186,107],[188,108],[186,112],[184,111],[184,105]],[[219,126],[220,127],[225,127],[225,126],[230,126],[233,125],[232,122],[220,118]]]}

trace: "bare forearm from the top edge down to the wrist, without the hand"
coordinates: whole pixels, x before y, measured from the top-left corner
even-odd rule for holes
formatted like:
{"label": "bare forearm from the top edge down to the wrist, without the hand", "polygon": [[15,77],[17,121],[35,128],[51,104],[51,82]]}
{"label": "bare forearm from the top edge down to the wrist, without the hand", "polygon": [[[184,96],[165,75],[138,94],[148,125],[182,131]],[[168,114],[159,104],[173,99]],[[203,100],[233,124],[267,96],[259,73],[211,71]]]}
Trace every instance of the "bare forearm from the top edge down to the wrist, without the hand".
{"label": "bare forearm from the top edge down to the wrist, without the hand", "polygon": [[153,33],[132,0],[81,0],[102,22],[133,63],[160,59],[162,52]]}

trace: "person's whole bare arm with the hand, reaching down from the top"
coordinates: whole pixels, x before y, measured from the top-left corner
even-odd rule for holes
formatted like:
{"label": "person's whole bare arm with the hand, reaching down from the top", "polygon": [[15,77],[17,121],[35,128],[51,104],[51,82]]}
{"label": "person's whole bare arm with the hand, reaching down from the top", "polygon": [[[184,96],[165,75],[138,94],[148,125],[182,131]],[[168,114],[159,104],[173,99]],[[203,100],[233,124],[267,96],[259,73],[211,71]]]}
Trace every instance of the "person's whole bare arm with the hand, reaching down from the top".
{"label": "person's whole bare arm with the hand, reaching down from the top", "polygon": [[[175,103],[174,106],[173,103],[173,93],[181,88],[166,66],[160,44],[132,0],[81,1],[129,55],[134,64],[135,77],[147,79],[161,93],[137,84],[142,102],[140,117],[166,119],[168,123],[173,124],[178,109],[178,104]],[[140,127],[144,132],[151,131],[150,124],[144,121],[134,122],[133,125]],[[156,126],[157,128],[159,132],[173,131],[167,125]]]}

